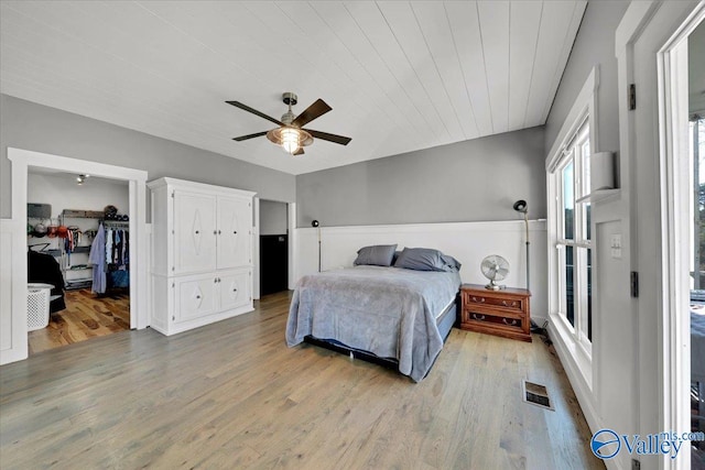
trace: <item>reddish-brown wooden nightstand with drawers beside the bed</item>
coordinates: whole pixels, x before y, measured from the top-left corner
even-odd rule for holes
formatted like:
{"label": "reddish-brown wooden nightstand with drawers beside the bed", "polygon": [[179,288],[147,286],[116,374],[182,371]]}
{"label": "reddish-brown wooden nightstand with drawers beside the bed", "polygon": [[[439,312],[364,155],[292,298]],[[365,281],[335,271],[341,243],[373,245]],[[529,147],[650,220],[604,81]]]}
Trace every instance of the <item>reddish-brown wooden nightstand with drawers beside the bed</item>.
{"label": "reddish-brown wooden nightstand with drawers beside the bed", "polygon": [[463,284],[460,329],[531,342],[529,297],[525,288],[490,291],[479,284]]}

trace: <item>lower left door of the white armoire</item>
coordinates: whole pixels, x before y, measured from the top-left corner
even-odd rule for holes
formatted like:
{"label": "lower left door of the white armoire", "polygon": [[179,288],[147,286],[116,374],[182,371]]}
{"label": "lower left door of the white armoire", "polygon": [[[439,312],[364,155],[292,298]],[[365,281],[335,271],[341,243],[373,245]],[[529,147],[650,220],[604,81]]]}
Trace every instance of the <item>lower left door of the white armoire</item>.
{"label": "lower left door of the white armoire", "polygon": [[218,311],[217,276],[213,273],[174,278],[174,321],[188,321]]}

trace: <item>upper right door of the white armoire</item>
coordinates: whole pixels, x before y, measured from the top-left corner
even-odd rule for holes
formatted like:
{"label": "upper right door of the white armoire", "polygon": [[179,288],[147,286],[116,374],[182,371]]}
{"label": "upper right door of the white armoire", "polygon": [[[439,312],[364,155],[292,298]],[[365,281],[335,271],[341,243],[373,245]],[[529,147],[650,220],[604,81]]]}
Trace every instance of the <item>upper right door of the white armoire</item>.
{"label": "upper right door of the white armoire", "polygon": [[242,198],[218,197],[218,269],[251,264],[252,208]]}

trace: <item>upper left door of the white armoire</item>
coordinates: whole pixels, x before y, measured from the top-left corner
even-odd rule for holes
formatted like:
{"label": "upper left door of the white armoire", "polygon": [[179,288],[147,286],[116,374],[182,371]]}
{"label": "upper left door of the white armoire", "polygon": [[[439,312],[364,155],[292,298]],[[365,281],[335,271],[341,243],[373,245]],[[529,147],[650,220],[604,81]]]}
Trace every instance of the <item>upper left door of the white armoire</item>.
{"label": "upper left door of the white armoire", "polygon": [[216,266],[215,196],[175,192],[174,274],[213,271]]}

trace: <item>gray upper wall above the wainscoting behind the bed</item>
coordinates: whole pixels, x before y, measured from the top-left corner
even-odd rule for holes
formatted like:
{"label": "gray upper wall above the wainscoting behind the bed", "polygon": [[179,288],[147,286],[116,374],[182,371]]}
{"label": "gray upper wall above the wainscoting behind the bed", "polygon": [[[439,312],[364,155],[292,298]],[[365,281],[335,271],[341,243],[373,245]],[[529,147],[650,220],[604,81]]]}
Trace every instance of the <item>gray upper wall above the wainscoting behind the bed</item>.
{"label": "gray upper wall above the wainscoting behind the bed", "polygon": [[296,176],[297,227],[545,218],[544,130],[458,142]]}

